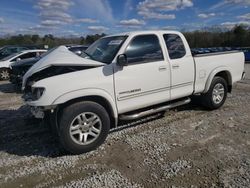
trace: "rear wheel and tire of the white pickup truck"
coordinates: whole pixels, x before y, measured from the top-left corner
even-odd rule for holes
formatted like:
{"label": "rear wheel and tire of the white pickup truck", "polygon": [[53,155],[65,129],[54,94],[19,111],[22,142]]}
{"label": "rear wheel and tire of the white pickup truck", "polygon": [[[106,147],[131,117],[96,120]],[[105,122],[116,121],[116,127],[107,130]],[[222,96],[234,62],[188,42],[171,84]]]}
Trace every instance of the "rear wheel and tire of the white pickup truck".
{"label": "rear wheel and tire of the white pickup truck", "polygon": [[208,92],[201,96],[201,102],[204,107],[210,110],[218,109],[225,103],[227,92],[226,80],[221,77],[214,77]]}

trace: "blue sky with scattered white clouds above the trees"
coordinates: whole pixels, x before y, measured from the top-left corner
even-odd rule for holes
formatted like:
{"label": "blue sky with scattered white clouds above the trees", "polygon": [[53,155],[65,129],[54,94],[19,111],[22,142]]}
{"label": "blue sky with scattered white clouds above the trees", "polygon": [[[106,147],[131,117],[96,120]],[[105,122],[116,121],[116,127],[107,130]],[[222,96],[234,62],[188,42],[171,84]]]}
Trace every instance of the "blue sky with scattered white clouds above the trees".
{"label": "blue sky with scattered white clouds above the trees", "polygon": [[1,0],[0,36],[250,26],[250,0]]}

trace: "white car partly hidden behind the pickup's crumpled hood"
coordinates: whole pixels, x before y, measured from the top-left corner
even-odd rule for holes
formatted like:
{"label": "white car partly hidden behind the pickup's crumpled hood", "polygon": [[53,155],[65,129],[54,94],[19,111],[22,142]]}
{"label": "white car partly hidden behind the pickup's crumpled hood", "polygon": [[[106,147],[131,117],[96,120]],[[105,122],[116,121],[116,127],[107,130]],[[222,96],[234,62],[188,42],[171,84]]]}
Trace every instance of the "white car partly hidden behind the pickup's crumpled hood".
{"label": "white car partly hidden behind the pickup's crumpled hood", "polygon": [[23,60],[23,59],[30,59],[30,58],[38,57],[45,52],[47,52],[47,50],[24,50],[22,52],[15,53],[15,54],[12,54],[8,57],[1,59],[0,60],[0,80],[9,79],[10,64]]}

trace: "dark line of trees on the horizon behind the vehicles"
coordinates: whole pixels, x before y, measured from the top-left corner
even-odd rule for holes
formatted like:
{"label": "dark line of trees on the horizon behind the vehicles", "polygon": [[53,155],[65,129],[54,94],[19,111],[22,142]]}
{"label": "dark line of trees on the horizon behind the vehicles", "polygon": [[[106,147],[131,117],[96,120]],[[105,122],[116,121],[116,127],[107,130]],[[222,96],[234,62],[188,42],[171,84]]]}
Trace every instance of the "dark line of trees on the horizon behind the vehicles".
{"label": "dark line of trees on the horizon behind the vehicles", "polygon": [[[221,29],[183,32],[191,48],[207,47],[250,47],[250,29],[244,25],[235,26],[232,30]],[[64,44],[90,45],[105,34],[87,35],[85,37],[55,37],[51,34],[16,35],[0,38],[0,46],[4,45],[48,45],[49,48]]]}

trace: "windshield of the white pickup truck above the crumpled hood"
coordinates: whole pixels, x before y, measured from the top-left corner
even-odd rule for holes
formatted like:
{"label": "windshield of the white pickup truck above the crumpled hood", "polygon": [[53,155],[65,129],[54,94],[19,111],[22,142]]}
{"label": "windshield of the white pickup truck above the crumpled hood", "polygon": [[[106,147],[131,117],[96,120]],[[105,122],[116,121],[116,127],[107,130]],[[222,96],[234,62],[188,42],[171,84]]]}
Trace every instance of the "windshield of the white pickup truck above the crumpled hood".
{"label": "windshield of the white pickup truck above the crumpled hood", "polygon": [[126,40],[127,36],[105,37],[93,43],[81,57],[109,64]]}

